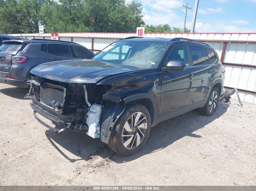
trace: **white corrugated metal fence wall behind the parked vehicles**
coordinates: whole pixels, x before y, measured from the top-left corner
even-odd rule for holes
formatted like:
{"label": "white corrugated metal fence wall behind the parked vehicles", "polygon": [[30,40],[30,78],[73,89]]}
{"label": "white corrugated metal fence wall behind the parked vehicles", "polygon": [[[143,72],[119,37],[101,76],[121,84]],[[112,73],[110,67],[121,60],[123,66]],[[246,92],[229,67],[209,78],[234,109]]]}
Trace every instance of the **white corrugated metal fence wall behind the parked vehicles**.
{"label": "white corrugated metal fence wall behind the parked vehicles", "polygon": [[[12,34],[20,36],[20,34]],[[51,39],[51,33],[22,34],[23,38]],[[73,41],[93,52],[104,49],[121,38],[135,36],[135,33],[58,33],[59,40]],[[91,38],[90,38],[91,37]],[[97,38],[98,37],[98,38]],[[145,33],[145,37],[183,37],[197,40],[243,40],[255,41],[256,33]],[[92,40],[93,38],[93,40]],[[221,58],[223,42],[207,42]],[[227,43],[223,62],[256,65],[256,43]],[[238,65],[225,65],[224,86],[256,92],[256,68]],[[239,91],[242,101],[256,104],[256,94]],[[237,99],[235,95],[232,98]]]}

